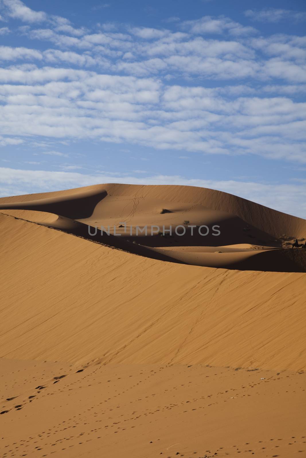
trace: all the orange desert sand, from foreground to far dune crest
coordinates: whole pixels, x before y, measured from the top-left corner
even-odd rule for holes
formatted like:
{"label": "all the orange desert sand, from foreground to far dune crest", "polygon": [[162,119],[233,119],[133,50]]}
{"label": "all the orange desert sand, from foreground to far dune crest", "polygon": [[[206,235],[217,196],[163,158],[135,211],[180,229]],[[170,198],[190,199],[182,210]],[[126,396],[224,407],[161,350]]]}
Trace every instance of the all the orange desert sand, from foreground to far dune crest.
{"label": "all the orange desert sand, from foreground to far dune crest", "polygon": [[[221,234],[136,236],[185,221]],[[0,223],[1,457],[306,456],[305,220],[106,184],[1,198]]]}

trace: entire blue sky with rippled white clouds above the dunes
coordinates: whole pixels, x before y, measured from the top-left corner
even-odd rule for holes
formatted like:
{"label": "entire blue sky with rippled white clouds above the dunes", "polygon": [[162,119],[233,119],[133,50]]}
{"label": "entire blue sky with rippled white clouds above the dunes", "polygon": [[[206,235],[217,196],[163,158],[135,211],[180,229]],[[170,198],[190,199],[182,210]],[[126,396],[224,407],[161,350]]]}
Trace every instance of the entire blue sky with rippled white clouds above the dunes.
{"label": "entire blue sky with rippled white clouds above the dunes", "polygon": [[0,0],[0,195],[182,184],[306,218],[305,26],[303,1]]}

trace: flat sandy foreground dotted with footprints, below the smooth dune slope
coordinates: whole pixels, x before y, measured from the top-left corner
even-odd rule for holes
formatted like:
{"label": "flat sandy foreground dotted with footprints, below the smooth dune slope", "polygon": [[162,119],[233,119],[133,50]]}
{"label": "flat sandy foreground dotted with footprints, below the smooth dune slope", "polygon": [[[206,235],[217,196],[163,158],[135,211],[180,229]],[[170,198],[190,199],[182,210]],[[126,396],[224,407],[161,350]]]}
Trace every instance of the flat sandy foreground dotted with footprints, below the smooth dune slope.
{"label": "flat sandy foreground dotted with footprints, below the smooth dune slope", "polygon": [[3,457],[306,456],[304,372],[3,359],[1,373],[16,396]]}

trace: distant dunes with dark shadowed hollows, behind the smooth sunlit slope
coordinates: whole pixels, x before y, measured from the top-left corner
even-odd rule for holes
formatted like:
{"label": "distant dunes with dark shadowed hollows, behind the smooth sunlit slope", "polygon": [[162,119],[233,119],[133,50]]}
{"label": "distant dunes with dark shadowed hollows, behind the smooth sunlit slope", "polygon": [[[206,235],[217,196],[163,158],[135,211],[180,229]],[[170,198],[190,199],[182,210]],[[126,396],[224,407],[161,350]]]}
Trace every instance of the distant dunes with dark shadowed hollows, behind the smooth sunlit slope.
{"label": "distant dunes with dark shadowed hollows, behind the smooth sunlit slope", "polygon": [[[263,250],[281,248],[285,243],[292,243],[296,237],[301,238],[306,234],[304,220],[219,191],[190,186],[108,184],[0,200],[4,201],[0,203],[0,211],[9,210],[9,214],[19,218],[153,259],[239,270],[306,270],[306,254],[293,256],[284,251],[260,255],[262,250],[258,250],[257,256],[254,256],[253,250],[260,246]],[[188,228],[189,223],[184,224],[187,221],[194,225],[195,230]],[[131,226],[132,230],[118,229],[122,222]],[[210,229],[204,237],[198,230],[203,224]],[[101,236],[98,232],[92,237],[88,233],[88,225],[92,227],[91,234],[95,233],[96,226],[107,228],[116,225],[121,235],[113,237],[104,233]],[[170,226],[175,228],[181,225],[186,233],[183,236],[174,232],[166,236],[152,236],[152,225],[160,229],[165,227],[166,230]],[[136,236],[136,226],[148,226],[149,235]],[[215,226],[220,229],[217,237],[211,230]],[[203,246],[234,247],[250,245],[250,241],[253,245],[249,252],[246,250],[242,253],[237,248],[231,251],[231,255],[224,254],[224,250],[220,249],[215,250],[214,256],[203,254]],[[131,245],[133,242],[141,247]],[[188,252],[179,250],[178,253],[177,248],[181,246],[197,249]],[[163,248],[167,248],[167,251]]]}

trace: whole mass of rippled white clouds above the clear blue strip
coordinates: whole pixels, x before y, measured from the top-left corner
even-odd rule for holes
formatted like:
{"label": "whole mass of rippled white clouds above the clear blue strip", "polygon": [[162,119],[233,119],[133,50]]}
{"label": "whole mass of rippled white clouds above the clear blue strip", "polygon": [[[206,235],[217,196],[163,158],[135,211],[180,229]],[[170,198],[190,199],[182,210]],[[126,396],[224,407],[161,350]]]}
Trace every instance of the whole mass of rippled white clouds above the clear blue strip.
{"label": "whole mass of rippled white clouds above the clear blue strip", "polygon": [[177,32],[119,23],[86,29],[19,0],[1,5],[3,14],[31,22],[18,33],[47,42],[0,47],[1,145],[36,143],[40,154],[61,156],[58,139],[87,139],[175,150],[181,158],[306,162],[306,109],[296,102],[306,92],[306,37],[258,37],[225,16],[171,18],[167,27],[173,22],[183,29]]}

